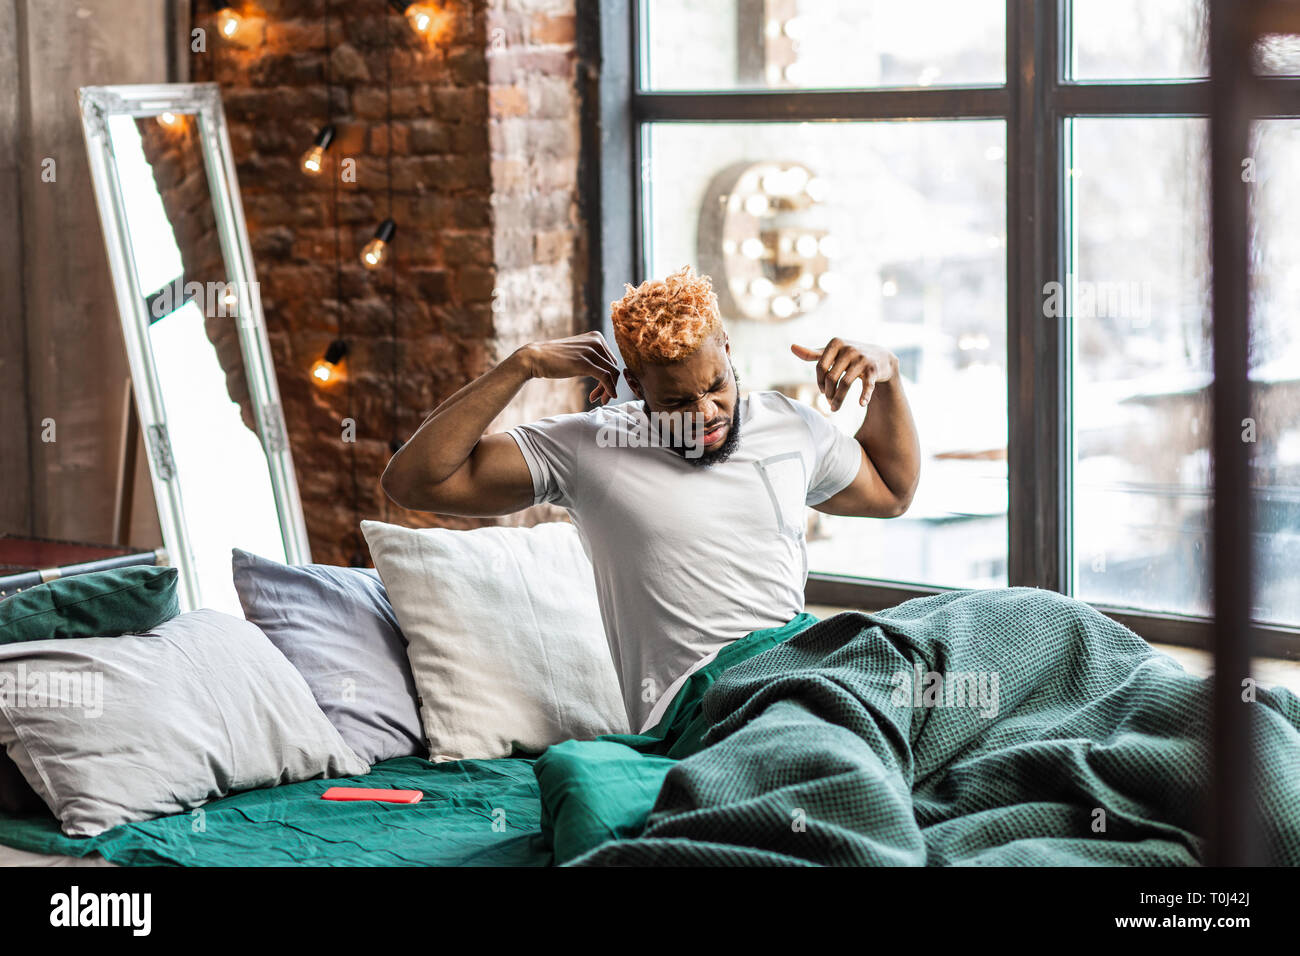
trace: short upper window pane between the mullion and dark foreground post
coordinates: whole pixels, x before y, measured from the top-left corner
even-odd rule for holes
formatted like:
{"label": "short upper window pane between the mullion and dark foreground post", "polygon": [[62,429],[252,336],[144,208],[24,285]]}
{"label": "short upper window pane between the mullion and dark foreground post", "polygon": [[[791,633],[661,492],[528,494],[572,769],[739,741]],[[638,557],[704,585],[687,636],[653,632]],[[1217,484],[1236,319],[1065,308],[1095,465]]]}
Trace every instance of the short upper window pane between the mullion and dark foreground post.
{"label": "short upper window pane between the mullion and dark foreground post", "polygon": [[1075,0],[1072,79],[1184,79],[1209,74],[1205,0]]}

